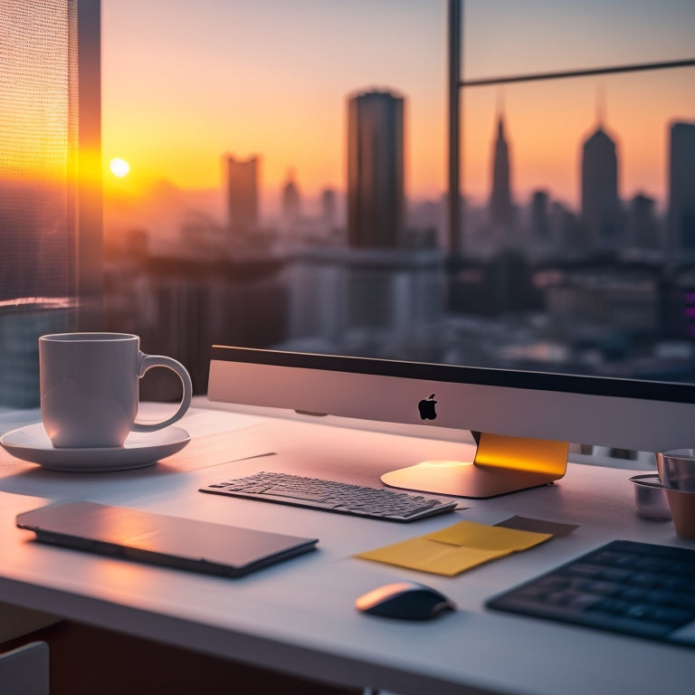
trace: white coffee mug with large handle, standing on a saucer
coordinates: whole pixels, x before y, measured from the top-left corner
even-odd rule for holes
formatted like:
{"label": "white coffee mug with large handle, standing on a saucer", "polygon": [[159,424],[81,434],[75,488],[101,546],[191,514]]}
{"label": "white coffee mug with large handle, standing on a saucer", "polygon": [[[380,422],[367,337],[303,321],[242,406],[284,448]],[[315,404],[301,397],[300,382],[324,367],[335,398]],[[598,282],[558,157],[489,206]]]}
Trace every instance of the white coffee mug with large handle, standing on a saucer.
{"label": "white coffee mug with large handle, standing on a saucer", "polygon": [[[54,447],[120,447],[130,432],[154,432],[191,405],[191,377],[172,357],[145,355],[128,333],[55,333],[39,338],[41,416]],[[152,367],[173,369],[184,395],[163,422],[142,424],[139,379]]]}

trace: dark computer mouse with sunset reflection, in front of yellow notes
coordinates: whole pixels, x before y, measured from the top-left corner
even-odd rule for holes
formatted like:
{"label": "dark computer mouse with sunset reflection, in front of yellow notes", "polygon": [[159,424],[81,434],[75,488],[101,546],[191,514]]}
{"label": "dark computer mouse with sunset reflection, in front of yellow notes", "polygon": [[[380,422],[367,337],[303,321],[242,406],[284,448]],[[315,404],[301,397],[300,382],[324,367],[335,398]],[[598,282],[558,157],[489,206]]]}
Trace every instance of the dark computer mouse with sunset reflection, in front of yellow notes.
{"label": "dark computer mouse with sunset reflection, in front of yellow notes", "polygon": [[456,610],[445,595],[419,582],[395,582],[379,586],[357,598],[355,605],[363,613],[400,620],[430,620]]}

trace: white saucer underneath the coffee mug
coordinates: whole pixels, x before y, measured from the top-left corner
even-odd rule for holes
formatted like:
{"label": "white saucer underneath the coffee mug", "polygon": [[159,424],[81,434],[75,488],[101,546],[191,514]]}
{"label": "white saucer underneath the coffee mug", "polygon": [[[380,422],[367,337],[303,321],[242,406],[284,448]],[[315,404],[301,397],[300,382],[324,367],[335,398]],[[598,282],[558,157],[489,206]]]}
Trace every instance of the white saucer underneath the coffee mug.
{"label": "white saucer underneath the coffee mug", "polygon": [[0,437],[5,451],[52,471],[127,471],[144,468],[183,449],[191,436],[180,427],[130,433],[123,447],[55,449],[43,424],[28,424]]}

